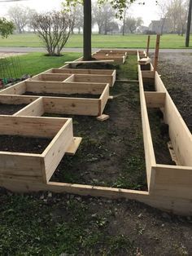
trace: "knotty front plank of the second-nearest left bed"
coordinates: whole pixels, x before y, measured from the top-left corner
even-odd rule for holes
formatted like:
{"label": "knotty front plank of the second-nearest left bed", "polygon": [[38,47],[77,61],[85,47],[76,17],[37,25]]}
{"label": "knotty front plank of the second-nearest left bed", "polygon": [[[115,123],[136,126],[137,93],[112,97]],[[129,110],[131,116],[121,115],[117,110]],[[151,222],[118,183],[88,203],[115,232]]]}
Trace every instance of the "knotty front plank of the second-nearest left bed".
{"label": "knotty front plank of the second-nearest left bed", "polygon": [[98,116],[100,99],[43,97],[46,113]]}

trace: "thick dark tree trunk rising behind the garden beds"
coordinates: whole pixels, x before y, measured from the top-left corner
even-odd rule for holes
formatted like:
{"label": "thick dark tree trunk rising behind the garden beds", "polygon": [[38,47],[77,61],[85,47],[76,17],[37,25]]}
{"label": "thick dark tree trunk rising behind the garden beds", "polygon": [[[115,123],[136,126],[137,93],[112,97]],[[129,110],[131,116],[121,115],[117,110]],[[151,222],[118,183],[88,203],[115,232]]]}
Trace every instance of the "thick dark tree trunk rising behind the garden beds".
{"label": "thick dark tree trunk rising behind the garden beds", "polygon": [[91,60],[91,0],[84,0],[83,59]]}

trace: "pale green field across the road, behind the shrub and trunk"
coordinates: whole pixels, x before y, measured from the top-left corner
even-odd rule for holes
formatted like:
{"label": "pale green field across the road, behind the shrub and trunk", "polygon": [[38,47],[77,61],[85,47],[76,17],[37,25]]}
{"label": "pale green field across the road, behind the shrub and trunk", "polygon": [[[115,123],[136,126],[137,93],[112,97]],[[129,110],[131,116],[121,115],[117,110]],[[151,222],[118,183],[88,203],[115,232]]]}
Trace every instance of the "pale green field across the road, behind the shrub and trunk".
{"label": "pale green field across the road, behind the shrub and trunk", "polygon": [[[155,47],[156,36],[151,36],[151,48]],[[117,47],[117,48],[145,48],[146,47],[146,35],[92,35],[92,46],[93,47]],[[83,36],[72,35],[66,47],[82,47]],[[41,47],[43,46],[36,34],[24,33],[11,35],[9,38],[0,38],[0,46],[9,47]],[[161,38],[161,48],[185,48],[185,37],[181,37],[173,34],[165,34]],[[190,42],[190,47],[192,43]]]}

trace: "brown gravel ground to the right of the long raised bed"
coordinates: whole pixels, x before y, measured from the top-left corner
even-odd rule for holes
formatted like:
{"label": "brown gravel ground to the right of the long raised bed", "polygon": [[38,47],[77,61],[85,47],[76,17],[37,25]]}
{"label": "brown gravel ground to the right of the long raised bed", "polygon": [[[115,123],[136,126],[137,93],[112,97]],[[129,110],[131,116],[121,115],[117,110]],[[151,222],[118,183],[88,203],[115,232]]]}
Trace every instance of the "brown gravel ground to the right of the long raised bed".
{"label": "brown gravel ground to the right of the long raised bed", "polygon": [[164,85],[192,132],[191,64],[191,53],[161,53],[158,69]]}

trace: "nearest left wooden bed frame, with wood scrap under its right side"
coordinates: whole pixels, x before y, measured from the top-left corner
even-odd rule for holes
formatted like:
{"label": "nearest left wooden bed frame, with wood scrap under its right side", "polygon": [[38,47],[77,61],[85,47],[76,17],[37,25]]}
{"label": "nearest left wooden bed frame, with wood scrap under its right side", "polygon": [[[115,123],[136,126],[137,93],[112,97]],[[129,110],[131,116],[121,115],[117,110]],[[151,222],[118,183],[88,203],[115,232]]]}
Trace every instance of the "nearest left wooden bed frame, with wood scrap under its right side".
{"label": "nearest left wooden bed frame, with wood scrap under its right side", "polygon": [[[52,139],[41,154],[0,151],[0,180],[48,183],[66,152],[76,151],[81,138],[73,138],[72,118],[0,116],[1,135]],[[77,143],[78,141],[78,143]]]}

